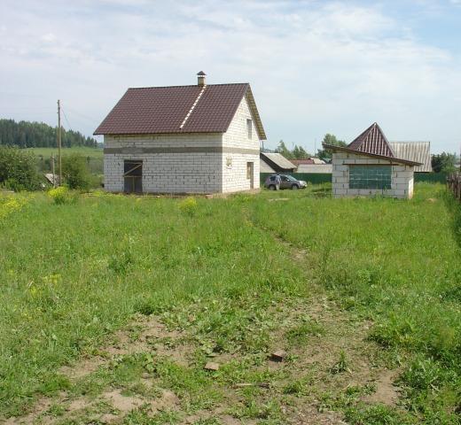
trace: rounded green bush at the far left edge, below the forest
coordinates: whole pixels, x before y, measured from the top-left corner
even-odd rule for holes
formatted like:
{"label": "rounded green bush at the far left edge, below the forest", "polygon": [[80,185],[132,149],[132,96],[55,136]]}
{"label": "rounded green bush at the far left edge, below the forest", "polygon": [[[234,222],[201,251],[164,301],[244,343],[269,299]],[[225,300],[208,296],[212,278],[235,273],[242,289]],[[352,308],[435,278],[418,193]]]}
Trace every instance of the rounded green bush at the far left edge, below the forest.
{"label": "rounded green bush at the far left edge, below the forest", "polygon": [[40,189],[34,155],[19,148],[0,146],[0,186],[14,191]]}

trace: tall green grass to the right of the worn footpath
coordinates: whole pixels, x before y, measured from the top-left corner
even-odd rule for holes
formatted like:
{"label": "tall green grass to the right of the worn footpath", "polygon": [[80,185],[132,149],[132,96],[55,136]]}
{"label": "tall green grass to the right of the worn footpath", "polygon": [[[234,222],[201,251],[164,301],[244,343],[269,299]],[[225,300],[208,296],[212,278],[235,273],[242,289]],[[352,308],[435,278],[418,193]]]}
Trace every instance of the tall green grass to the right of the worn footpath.
{"label": "tall green grass to the right of the worn footpath", "polygon": [[397,360],[410,355],[402,385],[411,408],[427,423],[451,421],[461,409],[461,207],[445,188],[419,183],[410,201],[308,192],[253,212],[307,251],[332,297],[374,321],[372,339]]}

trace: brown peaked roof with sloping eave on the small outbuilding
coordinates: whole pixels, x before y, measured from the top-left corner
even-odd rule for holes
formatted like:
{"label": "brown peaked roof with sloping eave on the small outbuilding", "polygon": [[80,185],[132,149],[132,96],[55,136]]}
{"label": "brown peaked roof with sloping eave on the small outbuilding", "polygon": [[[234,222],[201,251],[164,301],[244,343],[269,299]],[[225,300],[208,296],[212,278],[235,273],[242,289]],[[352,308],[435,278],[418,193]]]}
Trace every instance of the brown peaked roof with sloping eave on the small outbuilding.
{"label": "brown peaked roof with sloping eave on the small outbuilding", "polygon": [[367,128],[361,135],[358,135],[346,147],[336,146],[332,144],[323,144],[325,149],[332,149],[333,151],[345,151],[350,153],[358,153],[373,158],[386,158],[392,159],[394,162],[407,164],[410,166],[421,166],[422,163],[412,161],[406,158],[397,158],[395,153],[387,142],[386,135],[379,127],[378,123],[374,122]]}

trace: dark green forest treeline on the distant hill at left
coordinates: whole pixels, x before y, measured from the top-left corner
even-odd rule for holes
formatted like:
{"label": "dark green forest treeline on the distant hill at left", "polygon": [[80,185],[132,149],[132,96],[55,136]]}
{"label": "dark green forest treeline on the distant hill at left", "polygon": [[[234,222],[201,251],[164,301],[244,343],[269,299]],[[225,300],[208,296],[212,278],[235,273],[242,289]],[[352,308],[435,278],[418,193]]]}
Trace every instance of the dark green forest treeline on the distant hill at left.
{"label": "dark green forest treeline on the distant hill at left", "polygon": [[[57,128],[43,122],[0,120],[0,145],[20,148],[52,148],[56,146]],[[61,130],[62,146],[96,147],[97,141],[73,130]]]}

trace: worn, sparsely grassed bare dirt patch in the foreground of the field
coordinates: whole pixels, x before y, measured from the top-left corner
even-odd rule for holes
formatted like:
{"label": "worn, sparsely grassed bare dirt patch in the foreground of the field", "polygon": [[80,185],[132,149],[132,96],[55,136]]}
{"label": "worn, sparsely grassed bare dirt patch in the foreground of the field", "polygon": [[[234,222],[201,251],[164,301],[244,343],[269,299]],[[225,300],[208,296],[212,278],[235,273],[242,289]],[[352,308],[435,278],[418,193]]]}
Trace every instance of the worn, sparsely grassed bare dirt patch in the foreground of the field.
{"label": "worn, sparsely grassed bare dirt patch in the foreground of the field", "polygon": [[[305,261],[304,251],[291,249]],[[60,370],[68,390],[5,423],[343,424],[348,406],[395,406],[396,372],[367,341],[371,323],[321,290],[269,313],[275,325],[266,351],[213,357],[203,354],[193,324],[168,328],[163,316],[137,315],[98,356]],[[273,361],[278,350],[286,354]],[[207,361],[219,370],[204,370]]]}

